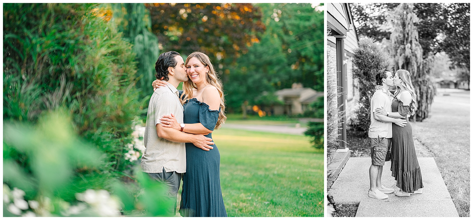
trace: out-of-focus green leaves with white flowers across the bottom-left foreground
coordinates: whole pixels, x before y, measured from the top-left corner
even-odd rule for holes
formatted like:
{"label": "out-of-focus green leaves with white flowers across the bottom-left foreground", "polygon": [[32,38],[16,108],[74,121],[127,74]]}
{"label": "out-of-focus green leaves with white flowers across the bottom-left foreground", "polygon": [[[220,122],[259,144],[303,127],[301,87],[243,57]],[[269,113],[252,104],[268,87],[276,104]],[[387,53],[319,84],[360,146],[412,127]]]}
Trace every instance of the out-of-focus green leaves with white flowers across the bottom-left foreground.
{"label": "out-of-focus green leaves with white flowers across the bottom-left foreground", "polygon": [[[139,166],[135,168],[140,184],[138,193],[104,173],[105,154],[74,134],[67,115],[67,110],[59,110],[44,114],[36,125],[4,124],[3,182],[9,188],[23,190],[25,201],[39,203],[36,207],[30,203],[26,210],[39,216],[116,216],[120,211],[165,216],[172,204],[161,197],[166,193],[164,185],[141,175]],[[22,156],[18,157],[18,153]],[[108,196],[100,189],[113,195]],[[18,196],[7,194],[14,200],[10,206],[21,207]],[[6,216],[15,216],[11,208],[5,209],[6,203],[9,202],[4,201]],[[86,208],[72,211],[80,207],[78,204]]]}

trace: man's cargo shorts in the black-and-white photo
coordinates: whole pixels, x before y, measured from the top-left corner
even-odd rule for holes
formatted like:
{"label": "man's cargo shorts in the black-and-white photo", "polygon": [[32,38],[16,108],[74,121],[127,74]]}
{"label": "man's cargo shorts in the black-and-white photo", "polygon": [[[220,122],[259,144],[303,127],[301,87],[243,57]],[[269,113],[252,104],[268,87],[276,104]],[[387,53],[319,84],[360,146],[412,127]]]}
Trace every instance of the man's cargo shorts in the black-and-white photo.
{"label": "man's cargo shorts in the black-and-white photo", "polygon": [[391,159],[391,138],[369,138],[371,150],[371,164],[384,166],[385,161]]}

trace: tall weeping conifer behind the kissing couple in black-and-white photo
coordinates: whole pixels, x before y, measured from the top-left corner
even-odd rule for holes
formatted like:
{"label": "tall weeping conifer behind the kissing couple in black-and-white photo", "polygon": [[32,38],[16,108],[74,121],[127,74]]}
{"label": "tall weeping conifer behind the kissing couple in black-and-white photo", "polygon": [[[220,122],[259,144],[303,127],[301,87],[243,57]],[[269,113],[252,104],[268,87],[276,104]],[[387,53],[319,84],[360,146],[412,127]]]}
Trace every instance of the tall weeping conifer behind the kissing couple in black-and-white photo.
{"label": "tall weeping conifer behind the kissing couple in black-and-white photo", "polygon": [[383,43],[394,59],[394,69],[404,69],[411,73],[418,103],[418,110],[411,118],[422,121],[429,116],[435,87],[429,78],[433,59],[422,58],[423,49],[416,26],[419,19],[413,12],[412,3],[401,3],[394,11],[387,13],[386,20],[391,27],[391,35],[390,40],[384,39]]}

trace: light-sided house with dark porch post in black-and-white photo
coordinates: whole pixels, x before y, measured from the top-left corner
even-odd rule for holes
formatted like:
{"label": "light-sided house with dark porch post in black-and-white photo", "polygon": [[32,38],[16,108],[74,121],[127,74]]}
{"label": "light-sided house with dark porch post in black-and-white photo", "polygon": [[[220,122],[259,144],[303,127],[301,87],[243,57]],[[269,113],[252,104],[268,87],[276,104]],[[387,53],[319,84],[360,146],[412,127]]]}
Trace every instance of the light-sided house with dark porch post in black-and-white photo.
{"label": "light-sided house with dark porch post in black-and-white photo", "polygon": [[349,3],[328,3],[326,12],[327,27],[330,32],[327,37],[327,53],[335,58],[335,60],[328,62],[333,62],[336,66],[337,86],[339,93],[341,93],[338,98],[338,106],[339,110],[345,113],[341,119],[342,126],[339,128],[339,139],[341,140],[339,149],[342,150],[347,149],[345,122],[350,118],[359,99],[358,91],[355,89],[356,82],[352,77],[353,50],[358,47],[358,35],[353,25]]}

